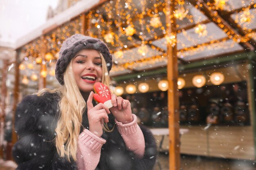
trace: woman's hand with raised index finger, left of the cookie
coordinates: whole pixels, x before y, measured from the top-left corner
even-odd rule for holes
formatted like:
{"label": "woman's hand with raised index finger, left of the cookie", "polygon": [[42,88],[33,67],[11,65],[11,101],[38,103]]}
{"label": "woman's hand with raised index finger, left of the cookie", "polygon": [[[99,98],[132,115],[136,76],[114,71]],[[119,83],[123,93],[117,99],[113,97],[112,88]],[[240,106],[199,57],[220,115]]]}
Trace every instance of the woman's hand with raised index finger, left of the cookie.
{"label": "woman's hand with raised index finger, left of the cookie", "polygon": [[102,103],[93,106],[92,97],[93,92],[90,93],[87,100],[87,115],[89,121],[89,130],[97,137],[101,137],[103,134],[103,118],[104,122],[108,122],[108,114],[110,114],[110,110],[107,106]]}

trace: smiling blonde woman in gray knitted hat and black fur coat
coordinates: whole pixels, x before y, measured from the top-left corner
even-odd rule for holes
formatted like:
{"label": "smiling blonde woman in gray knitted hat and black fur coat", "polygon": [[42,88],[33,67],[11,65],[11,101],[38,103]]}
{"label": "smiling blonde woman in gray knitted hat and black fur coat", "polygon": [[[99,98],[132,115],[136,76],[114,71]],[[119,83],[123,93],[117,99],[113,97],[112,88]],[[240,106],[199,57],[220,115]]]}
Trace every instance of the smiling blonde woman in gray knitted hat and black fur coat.
{"label": "smiling blonde woman in gray knitted hat and black fur coat", "polygon": [[112,94],[108,109],[92,99],[96,82],[110,84],[112,56],[106,44],[75,34],[63,42],[59,56],[60,88],[29,95],[16,109],[17,170],[153,169],[155,139],[138,126],[130,102]]}

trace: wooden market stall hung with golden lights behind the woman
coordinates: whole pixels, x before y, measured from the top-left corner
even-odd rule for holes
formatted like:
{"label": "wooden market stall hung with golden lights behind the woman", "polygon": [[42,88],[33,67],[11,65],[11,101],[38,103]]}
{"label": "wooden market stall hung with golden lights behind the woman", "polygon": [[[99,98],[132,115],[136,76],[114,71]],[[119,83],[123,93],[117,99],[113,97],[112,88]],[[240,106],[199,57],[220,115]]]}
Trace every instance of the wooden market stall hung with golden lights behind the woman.
{"label": "wooden market stall hung with golden lights behind the woman", "polygon": [[[169,128],[170,169],[179,169],[180,152],[255,160],[255,7],[254,0],[101,0],[20,44],[13,101],[58,86],[60,45],[82,33],[110,47],[113,91],[130,97],[141,122]],[[244,98],[231,101],[242,90]],[[181,147],[180,127],[189,128]]]}

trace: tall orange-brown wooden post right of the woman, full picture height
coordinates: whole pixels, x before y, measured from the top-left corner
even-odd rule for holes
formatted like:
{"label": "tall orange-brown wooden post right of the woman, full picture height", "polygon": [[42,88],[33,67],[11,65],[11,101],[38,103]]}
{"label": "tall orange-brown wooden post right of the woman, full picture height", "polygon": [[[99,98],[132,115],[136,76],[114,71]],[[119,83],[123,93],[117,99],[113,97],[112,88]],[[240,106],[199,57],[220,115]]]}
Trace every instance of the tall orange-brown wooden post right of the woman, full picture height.
{"label": "tall orange-brown wooden post right of the woman, full picture height", "polygon": [[166,0],[167,38],[167,79],[168,89],[168,128],[169,128],[169,169],[180,170],[180,114],[178,96],[178,63],[176,46],[176,21],[173,17],[175,0]]}

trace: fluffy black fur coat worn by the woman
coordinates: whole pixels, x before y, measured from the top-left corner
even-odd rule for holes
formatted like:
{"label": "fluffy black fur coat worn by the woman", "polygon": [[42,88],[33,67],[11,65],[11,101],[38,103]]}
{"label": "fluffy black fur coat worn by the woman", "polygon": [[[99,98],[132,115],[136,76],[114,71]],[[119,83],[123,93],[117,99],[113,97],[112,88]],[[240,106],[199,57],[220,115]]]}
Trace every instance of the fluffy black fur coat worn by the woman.
{"label": "fluffy black fur coat worn by the woman", "polygon": [[[58,121],[59,97],[54,93],[43,96],[29,95],[16,109],[15,130],[19,140],[13,146],[13,159],[18,164],[16,170],[77,170],[76,162],[59,157],[54,145],[56,122]],[[109,116],[108,126],[114,125],[114,117]],[[83,127],[88,128],[87,113],[83,114]],[[137,159],[126,149],[117,128],[104,132],[106,144],[102,146],[101,157],[96,170],[151,170],[155,164],[157,147],[155,139],[147,128],[140,126],[145,139],[145,155]],[[82,130],[82,128],[81,128]]]}

